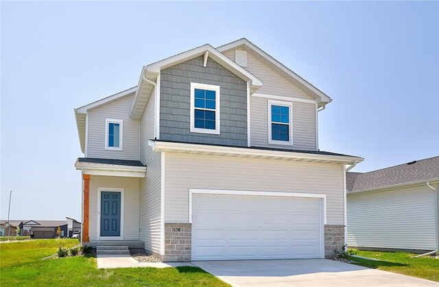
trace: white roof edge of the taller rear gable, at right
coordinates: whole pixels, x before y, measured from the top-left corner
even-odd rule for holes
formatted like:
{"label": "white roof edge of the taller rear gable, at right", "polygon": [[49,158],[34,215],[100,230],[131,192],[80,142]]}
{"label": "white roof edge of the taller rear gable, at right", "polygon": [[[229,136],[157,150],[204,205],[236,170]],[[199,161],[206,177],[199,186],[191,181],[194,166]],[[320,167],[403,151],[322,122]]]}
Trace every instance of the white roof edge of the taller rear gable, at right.
{"label": "white roof edge of the taller rear gable, at right", "polygon": [[302,89],[302,91],[305,91],[305,93],[311,95],[311,97],[318,99],[319,106],[324,106],[325,104],[332,101],[331,97],[314,87],[311,83],[307,82],[307,80],[300,77],[297,73],[294,73],[294,71],[287,68],[281,62],[279,62],[269,54],[265,53],[265,51],[257,47],[257,45],[254,45],[253,43],[248,41],[246,38],[241,38],[237,41],[219,46],[217,47],[217,50],[224,53],[226,51],[229,51],[231,49],[237,49],[239,47],[250,52],[250,54],[252,54],[255,58],[276,71],[276,73],[283,76],[283,78],[289,80],[289,82],[292,82],[292,84]]}

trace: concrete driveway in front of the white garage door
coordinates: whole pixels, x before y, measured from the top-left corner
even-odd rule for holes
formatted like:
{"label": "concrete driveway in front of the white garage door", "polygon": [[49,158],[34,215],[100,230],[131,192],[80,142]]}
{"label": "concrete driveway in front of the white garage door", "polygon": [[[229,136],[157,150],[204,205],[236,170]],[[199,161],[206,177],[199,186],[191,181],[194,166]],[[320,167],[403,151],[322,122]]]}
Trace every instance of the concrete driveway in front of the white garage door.
{"label": "concrete driveway in front of the white garage door", "polygon": [[439,286],[436,282],[325,259],[195,261],[232,286]]}

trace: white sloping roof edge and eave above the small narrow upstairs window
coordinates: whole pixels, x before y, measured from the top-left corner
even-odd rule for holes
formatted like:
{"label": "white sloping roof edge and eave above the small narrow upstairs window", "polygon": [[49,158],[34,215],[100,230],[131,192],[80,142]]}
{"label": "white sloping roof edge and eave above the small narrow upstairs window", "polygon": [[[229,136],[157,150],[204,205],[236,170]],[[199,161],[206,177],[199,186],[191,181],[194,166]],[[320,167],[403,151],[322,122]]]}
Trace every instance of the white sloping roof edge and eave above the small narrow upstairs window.
{"label": "white sloping roof edge and eave above the small narrow upstairs window", "polygon": [[92,102],[91,104],[86,104],[85,106],[75,108],[76,128],[78,128],[78,137],[80,138],[80,146],[82,152],[85,152],[85,125],[87,111],[90,111],[93,108],[98,108],[99,106],[102,106],[104,104],[114,102],[121,99],[122,97],[132,95],[136,91],[137,86],[127,89],[125,91],[121,91],[119,93],[115,93],[114,95],[109,95],[108,97],[104,97],[103,99]]}

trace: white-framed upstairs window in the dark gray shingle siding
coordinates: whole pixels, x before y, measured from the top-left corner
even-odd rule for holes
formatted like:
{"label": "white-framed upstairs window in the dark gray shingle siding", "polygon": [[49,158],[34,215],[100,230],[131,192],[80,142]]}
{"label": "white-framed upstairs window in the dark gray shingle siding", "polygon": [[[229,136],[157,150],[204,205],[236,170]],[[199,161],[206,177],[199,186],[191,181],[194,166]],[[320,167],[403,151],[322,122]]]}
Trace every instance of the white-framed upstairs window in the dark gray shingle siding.
{"label": "white-framed upstairs window in the dark gray shingle siding", "polygon": [[191,82],[191,133],[219,135],[219,86]]}

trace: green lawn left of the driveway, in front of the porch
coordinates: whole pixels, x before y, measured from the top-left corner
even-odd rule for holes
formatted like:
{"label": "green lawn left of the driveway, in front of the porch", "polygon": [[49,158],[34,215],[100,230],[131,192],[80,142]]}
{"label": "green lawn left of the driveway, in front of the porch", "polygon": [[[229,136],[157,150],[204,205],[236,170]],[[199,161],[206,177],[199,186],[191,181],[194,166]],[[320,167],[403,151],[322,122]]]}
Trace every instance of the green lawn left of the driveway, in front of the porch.
{"label": "green lawn left of the driveway, in front of the porch", "polygon": [[[31,245],[0,245],[1,286],[228,286],[197,267],[97,269],[95,257],[40,260],[53,254],[58,246],[51,247],[50,252],[40,252],[38,244],[43,244],[42,249],[54,245],[43,241],[48,240],[32,241],[37,244]],[[3,267],[5,254],[19,258],[8,260]]]}

